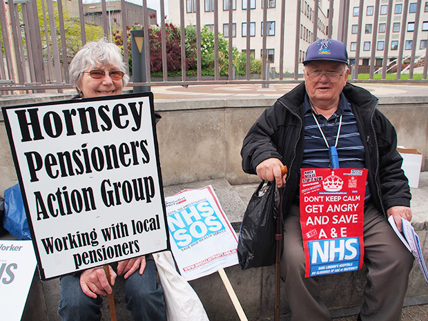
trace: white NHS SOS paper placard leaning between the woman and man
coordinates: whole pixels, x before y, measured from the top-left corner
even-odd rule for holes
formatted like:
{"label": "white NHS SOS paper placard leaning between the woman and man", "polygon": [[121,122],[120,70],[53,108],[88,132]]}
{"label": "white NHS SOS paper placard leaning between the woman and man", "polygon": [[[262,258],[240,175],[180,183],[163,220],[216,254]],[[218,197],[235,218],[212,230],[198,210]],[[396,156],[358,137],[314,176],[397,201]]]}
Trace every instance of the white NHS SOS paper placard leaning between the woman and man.
{"label": "white NHS SOS paper placard leaning between the woman and man", "polygon": [[211,185],[165,202],[171,251],[186,280],[237,264],[237,236]]}

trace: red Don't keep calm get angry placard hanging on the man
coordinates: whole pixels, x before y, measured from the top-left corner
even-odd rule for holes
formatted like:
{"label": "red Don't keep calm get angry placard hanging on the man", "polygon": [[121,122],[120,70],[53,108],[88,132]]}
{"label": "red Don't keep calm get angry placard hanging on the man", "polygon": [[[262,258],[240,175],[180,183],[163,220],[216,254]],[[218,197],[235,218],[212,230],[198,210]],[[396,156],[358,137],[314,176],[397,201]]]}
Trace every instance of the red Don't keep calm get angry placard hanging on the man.
{"label": "red Don't keep calm get angry placard hanging on the man", "polygon": [[367,169],[301,169],[306,278],[361,269],[366,180]]}

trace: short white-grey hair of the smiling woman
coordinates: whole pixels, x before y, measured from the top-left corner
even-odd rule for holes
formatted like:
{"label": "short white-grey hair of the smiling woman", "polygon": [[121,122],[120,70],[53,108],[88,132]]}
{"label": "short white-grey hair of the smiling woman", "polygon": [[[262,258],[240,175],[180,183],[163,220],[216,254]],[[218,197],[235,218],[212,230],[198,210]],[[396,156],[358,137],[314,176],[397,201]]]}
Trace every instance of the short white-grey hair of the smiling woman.
{"label": "short white-grey hair of the smiling woman", "polygon": [[72,84],[79,92],[82,72],[90,68],[104,68],[106,66],[114,66],[125,72],[122,84],[123,86],[128,84],[129,76],[126,74],[124,59],[120,48],[115,43],[109,43],[106,39],[86,43],[76,52],[75,57],[70,62],[69,72]]}

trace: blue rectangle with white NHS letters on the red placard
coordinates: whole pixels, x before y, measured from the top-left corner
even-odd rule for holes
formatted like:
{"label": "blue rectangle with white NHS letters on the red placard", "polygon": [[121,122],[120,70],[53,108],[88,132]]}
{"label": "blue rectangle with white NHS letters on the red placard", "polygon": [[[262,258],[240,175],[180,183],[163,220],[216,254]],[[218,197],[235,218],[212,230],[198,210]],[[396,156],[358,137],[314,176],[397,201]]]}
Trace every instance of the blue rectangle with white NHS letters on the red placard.
{"label": "blue rectangle with white NHS letters on the red placard", "polygon": [[311,264],[349,261],[360,252],[360,240],[358,237],[317,240],[308,242],[308,247]]}

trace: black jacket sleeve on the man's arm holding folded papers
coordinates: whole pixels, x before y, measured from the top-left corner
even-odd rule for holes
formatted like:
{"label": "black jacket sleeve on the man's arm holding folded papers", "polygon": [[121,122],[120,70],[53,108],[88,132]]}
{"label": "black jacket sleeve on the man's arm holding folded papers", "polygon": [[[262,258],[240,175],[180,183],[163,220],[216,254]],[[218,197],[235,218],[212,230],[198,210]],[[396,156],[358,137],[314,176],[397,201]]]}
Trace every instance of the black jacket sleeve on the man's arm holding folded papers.
{"label": "black jacket sleeve on the man's arm holding folded papers", "polygon": [[387,117],[376,110],[374,115],[379,150],[379,177],[385,208],[410,206],[409,182],[401,169],[402,157],[397,151],[397,134]]}

